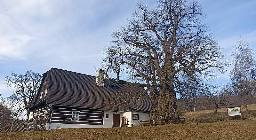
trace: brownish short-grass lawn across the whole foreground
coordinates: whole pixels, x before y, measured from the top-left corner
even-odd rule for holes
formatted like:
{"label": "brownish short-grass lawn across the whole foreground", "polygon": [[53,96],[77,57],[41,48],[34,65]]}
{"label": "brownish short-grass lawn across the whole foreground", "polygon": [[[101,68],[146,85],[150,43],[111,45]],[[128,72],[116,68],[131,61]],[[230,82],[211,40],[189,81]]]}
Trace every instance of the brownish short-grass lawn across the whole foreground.
{"label": "brownish short-grass lawn across the whole foreground", "polygon": [[168,124],[134,128],[68,128],[50,131],[0,133],[1,140],[83,140],[83,139],[164,139],[164,140],[255,140],[256,120],[215,123]]}

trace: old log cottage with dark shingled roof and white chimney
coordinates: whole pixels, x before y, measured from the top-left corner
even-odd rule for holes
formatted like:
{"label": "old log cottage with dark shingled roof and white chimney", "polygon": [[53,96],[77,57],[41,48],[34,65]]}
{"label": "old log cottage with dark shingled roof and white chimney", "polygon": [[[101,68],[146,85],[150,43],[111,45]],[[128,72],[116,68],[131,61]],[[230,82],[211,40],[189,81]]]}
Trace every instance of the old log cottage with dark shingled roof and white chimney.
{"label": "old log cottage with dark shingled roof and white chimney", "polygon": [[131,127],[122,124],[149,120],[153,102],[147,94],[131,104],[144,89],[106,80],[102,70],[91,76],[52,68],[43,76],[29,119],[48,120],[46,129]]}

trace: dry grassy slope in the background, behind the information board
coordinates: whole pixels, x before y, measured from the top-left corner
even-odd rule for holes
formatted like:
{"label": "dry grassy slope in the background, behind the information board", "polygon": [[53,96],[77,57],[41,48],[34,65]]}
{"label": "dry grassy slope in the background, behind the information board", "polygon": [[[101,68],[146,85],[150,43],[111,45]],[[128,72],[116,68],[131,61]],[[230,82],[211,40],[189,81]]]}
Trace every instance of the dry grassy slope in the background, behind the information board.
{"label": "dry grassy slope in the background, behind the information board", "polygon": [[[242,114],[245,114],[244,106],[241,106]],[[256,114],[256,104],[248,105],[248,110],[250,114]],[[193,113],[193,112],[192,112]],[[227,108],[219,108],[217,114],[214,114],[214,109],[211,110],[202,110],[195,112],[195,120],[191,121],[190,112],[183,113],[186,118],[186,122],[212,122],[215,120],[226,120],[227,117]],[[192,114],[193,115],[193,114]],[[256,115],[247,115],[246,117],[256,117]]]}

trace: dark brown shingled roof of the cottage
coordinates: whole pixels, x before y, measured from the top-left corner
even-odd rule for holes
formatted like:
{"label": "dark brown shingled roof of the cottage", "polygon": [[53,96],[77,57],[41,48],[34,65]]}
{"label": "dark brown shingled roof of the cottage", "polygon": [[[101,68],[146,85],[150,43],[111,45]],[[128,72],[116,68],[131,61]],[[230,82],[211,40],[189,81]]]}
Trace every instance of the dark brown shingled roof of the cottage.
{"label": "dark brown shingled roof of the cottage", "polygon": [[46,104],[116,111],[152,109],[153,101],[148,94],[142,97],[139,104],[125,104],[131,102],[131,97],[142,93],[143,87],[116,84],[109,80],[102,87],[96,84],[96,76],[57,68],[52,68],[43,75],[48,77],[49,97]]}

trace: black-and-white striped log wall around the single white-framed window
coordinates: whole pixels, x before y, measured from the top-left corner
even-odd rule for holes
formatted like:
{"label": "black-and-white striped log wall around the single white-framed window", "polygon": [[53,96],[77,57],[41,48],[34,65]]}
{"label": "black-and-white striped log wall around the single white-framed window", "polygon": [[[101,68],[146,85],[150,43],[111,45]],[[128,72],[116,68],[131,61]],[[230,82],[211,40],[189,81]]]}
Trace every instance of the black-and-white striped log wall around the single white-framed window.
{"label": "black-and-white striped log wall around the single white-framed window", "polygon": [[[87,124],[87,125],[103,124],[102,110],[57,106],[57,105],[53,106],[52,109],[53,109],[53,112],[52,112],[51,123]],[[78,121],[71,121],[72,111],[79,111]]]}

